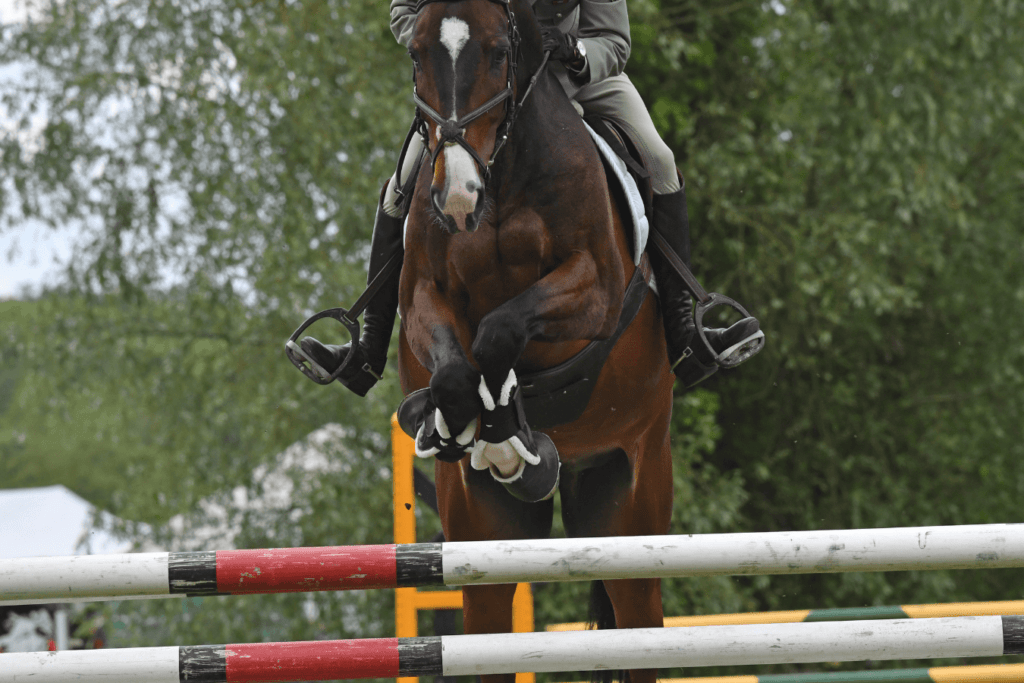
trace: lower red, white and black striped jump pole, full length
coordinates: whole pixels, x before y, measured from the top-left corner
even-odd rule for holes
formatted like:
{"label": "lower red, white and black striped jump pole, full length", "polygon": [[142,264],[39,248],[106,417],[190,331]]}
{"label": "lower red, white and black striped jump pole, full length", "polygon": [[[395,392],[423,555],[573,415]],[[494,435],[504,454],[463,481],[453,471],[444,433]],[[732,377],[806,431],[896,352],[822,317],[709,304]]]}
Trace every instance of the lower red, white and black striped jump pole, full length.
{"label": "lower red, white and black striped jump pole, full length", "polygon": [[0,654],[0,683],[247,683],[1024,653],[1024,616],[380,638]]}

